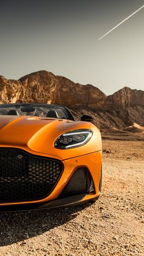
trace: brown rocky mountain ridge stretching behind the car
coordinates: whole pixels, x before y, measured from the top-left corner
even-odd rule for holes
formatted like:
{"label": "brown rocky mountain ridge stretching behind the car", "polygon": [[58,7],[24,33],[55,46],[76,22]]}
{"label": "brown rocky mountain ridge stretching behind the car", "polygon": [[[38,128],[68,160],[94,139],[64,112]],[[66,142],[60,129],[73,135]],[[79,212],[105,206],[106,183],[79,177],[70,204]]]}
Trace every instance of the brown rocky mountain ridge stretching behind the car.
{"label": "brown rocky mountain ridge stretching behind the car", "polygon": [[75,84],[48,71],[31,73],[19,80],[0,76],[0,101],[64,105],[77,119],[84,112],[93,115],[99,128],[124,128],[132,123],[144,126],[144,91],[124,87],[107,96],[91,84]]}

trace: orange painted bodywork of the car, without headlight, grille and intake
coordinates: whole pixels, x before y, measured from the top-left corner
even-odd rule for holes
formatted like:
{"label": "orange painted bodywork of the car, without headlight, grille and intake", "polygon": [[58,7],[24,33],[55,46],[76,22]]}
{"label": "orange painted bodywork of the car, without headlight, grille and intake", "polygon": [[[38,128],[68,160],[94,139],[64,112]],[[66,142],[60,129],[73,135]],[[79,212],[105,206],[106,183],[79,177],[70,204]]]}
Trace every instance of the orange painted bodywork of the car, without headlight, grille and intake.
{"label": "orange painted bodywork of the car, without headlight, grille and intake", "polygon": [[[54,147],[54,141],[60,134],[77,129],[91,129],[93,136],[87,144],[67,150]],[[71,175],[79,167],[87,167],[93,178],[95,194],[84,200],[99,196],[99,179],[101,175],[101,134],[95,125],[88,122],[74,122],[62,119],[41,117],[0,116],[0,147],[15,147],[29,153],[57,158],[64,164],[62,177],[51,194],[42,200],[32,202],[1,203],[0,205],[19,205],[46,202],[56,199],[63,190]]]}

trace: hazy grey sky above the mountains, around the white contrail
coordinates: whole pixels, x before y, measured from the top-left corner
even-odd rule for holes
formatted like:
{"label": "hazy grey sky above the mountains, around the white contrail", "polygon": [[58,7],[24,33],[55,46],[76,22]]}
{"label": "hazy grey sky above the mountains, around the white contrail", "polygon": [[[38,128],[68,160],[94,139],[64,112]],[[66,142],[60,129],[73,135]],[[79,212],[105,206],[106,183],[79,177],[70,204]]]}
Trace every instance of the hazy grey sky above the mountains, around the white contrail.
{"label": "hazy grey sky above the mountains, around the white contrail", "polygon": [[93,84],[107,95],[144,89],[144,0],[1,0],[0,75],[38,70]]}

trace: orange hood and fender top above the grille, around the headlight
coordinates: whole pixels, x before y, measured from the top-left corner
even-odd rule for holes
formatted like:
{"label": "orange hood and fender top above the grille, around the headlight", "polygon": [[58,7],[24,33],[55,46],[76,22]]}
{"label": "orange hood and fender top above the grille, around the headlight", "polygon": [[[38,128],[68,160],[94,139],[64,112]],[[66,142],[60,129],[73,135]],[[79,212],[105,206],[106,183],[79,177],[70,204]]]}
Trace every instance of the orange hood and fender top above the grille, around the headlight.
{"label": "orange hood and fender top above the grille, around the headlight", "polygon": [[[92,123],[74,122],[63,119],[49,119],[34,116],[0,116],[0,146],[1,147],[20,147],[31,152],[37,152],[42,155],[56,157],[59,159],[72,158],[77,155],[95,152],[101,150],[101,147],[94,147],[88,144],[73,150],[59,150],[54,148],[54,141],[60,134],[66,131],[88,128],[96,133],[99,131]],[[96,134],[94,132],[93,137]],[[98,136],[97,136],[98,140]],[[92,141],[92,140],[90,140]],[[100,137],[99,137],[100,141]],[[81,152],[83,148],[83,152]],[[73,153],[71,153],[73,152]]]}

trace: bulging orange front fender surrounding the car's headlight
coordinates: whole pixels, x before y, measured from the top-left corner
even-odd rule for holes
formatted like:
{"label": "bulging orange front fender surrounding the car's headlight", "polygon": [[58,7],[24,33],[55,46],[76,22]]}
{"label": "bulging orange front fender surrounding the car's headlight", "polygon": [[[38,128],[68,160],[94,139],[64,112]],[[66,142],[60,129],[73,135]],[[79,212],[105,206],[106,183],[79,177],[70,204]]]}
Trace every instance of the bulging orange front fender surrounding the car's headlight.
{"label": "bulging orange front fender surrounding the car's headlight", "polygon": [[[87,144],[81,147],[58,149],[54,147],[54,142],[62,133],[77,129],[91,129],[93,136]],[[88,122],[70,122],[68,120],[56,120],[50,125],[45,125],[31,137],[27,143],[31,150],[57,156],[60,159],[69,159],[76,156],[87,155],[88,153],[98,152],[101,150],[101,134],[95,125]]]}

